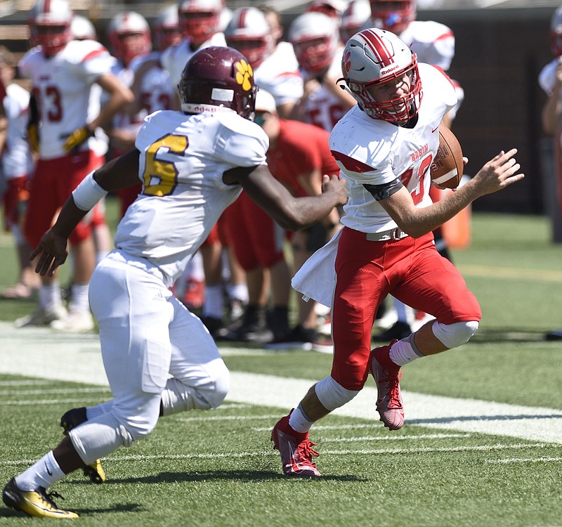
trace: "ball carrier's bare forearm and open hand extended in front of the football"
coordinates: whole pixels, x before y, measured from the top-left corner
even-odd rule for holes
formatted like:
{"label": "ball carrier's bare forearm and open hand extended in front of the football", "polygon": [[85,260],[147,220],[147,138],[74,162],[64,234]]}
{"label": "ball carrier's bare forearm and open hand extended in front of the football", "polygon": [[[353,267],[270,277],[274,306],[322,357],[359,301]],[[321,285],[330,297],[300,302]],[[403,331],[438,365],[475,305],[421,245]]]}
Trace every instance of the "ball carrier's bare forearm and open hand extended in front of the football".
{"label": "ball carrier's bare forearm and open hand extended in front of the football", "polygon": [[379,203],[400,229],[413,238],[419,238],[451,219],[478,197],[521,181],[525,176],[518,172],[521,165],[514,158],[516,152],[515,148],[499,152],[466,185],[430,207],[415,207],[405,187]]}

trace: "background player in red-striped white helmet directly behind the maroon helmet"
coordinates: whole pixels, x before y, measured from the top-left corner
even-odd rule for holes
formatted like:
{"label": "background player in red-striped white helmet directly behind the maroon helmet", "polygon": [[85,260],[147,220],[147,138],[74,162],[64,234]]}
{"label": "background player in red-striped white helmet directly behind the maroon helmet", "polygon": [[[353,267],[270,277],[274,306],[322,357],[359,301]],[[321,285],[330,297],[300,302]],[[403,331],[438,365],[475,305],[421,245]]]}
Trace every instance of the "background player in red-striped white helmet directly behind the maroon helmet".
{"label": "background player in red-striped white helmet directly behind the maroon helmet", "polygon": [[293,46],[289,42],[277,43],[266,15],[254,7],[234,11],[225,38],[228,46],[249,60],[256,84],[273,95],[280,117],[292,115],[303,96],[303,80]]}

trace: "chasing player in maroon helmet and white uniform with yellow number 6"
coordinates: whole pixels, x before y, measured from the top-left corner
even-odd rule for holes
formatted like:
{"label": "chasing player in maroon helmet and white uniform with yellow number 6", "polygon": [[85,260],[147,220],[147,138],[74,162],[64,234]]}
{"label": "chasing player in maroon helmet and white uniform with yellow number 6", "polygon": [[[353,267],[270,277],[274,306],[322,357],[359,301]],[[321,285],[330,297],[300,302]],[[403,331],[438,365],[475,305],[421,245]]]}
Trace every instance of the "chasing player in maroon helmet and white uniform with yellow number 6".
{"label": "chasing player in maroon helmet and white uniform with yellow number 6", "polygon": [[251,122],[257,86],[240,52],[197,51],[179,91],[183,113],[148,116],[136,148],[89,174],[34,250],[36,271],[51,275],[86,212],[107,191],[141,179],[142,193],[117,227],[117,248],[98,264],[90,287],[113,399],[66,412],[67,437],[6,485],[4,503],[32,516],[77,517],[59,509],[46,489],[76,469],[99,468],[96,460],[149,434],[160,415],[222,403],[226,365],[169,287],[242,188],[287,229],[320,221],[347,200],[336,176],[325,176],[321,195],[300,198],[271,176],[268,138]]}

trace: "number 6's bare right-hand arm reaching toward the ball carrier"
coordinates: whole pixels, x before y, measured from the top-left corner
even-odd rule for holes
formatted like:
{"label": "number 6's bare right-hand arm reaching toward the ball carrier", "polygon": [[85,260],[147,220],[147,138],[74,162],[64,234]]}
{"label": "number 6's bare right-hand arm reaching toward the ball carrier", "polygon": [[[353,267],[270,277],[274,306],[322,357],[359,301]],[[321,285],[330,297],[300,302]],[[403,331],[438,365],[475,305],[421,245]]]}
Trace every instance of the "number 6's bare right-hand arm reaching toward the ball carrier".
{"label": "number 6's bare right-hand arm reaching toward the ball carrier", "polygon": [[230,169],[223,174],[227,184],[240,183],[248,195],[285,230],[305,228],[347,202],[346,185],[337,176],[324,176],[322,194],[294,197],[270,174],[265,165]]}

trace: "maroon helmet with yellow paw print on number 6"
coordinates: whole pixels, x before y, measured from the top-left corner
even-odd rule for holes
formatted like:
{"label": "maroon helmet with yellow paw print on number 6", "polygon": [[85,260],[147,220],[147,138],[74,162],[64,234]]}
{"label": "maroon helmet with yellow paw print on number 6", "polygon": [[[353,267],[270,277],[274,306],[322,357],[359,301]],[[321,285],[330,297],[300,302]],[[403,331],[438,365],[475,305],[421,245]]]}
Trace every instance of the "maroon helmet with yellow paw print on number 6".
{"label": "maroon helmet with yellow paw print on number 6", "polygon": [[181,73],[178,90],[185,113],[216,112],[229,108],[254,120],[254,71],[234,48],[210,46],[193,53]]}

